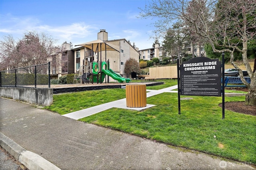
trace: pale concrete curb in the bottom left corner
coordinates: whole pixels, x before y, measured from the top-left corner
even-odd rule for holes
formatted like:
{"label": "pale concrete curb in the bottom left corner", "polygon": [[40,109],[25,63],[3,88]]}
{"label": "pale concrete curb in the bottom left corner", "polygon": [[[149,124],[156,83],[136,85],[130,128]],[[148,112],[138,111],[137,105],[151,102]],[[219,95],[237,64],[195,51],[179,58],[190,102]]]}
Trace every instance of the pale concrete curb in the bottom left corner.
{"label": "pale concrete curb in the bottom left corner", "polygon": [[29,170],[60,170],[42,156],[30,152],[0,132],[0,146]]}

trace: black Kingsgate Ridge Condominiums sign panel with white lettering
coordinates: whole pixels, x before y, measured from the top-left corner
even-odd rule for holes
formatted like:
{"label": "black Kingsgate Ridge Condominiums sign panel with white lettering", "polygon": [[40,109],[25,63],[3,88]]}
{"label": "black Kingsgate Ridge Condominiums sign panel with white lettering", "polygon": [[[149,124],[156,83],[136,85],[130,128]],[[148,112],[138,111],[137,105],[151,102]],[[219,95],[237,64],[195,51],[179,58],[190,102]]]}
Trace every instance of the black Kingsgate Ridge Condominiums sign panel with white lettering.
{"label": "black Kingsgate Ridge Condominiums sign panel with white lettering", "polygon": [[180,95],[221,96],[221,62],[207,57],[182,62]]}

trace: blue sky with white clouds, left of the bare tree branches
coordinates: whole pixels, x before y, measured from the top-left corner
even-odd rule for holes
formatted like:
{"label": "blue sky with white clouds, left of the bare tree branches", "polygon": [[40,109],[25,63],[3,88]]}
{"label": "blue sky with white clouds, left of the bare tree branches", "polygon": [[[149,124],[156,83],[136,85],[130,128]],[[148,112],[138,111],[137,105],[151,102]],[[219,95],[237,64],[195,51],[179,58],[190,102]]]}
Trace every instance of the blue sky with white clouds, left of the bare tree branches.
{"label": "blue sky with white clouds, left of the bare tree branches", "polygon": [[148,0],[0,0],[0,39],[21,39],[27,31],[44,32],[73,45],[96,40],[106,29],[108,40],[127,39],[139,49],[152,48],[152,19],[137,18]]}

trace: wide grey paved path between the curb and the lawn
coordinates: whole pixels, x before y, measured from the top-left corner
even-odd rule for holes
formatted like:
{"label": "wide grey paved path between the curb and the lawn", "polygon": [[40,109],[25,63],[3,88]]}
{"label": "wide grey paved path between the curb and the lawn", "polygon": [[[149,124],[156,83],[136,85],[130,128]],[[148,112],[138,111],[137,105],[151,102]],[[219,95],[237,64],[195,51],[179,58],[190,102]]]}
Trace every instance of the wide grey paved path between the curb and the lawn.
{"label": "wide grey paved path between the curb and the lawn", "polygon": [[[254,169],[4,98],[0,98],[0,113],[1,146],[12,148],[12,154],[26,152],[26,159],[21,163],[30,170]],[[46,160],[48,168],[45,168]]]}

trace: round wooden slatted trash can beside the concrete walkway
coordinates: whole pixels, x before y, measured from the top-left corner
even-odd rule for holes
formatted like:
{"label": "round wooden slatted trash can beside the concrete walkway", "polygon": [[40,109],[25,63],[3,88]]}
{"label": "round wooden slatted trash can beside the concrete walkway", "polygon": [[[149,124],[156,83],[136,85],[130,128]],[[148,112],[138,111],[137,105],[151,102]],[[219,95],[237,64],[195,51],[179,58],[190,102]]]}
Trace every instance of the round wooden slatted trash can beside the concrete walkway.
{"label": "round wooden slatted trash can beside the concrete walkway", "polygon": [[147,95],[146,85],[126,85],[126,106],[127,107],[146,107]]}

